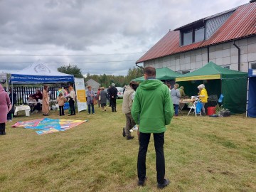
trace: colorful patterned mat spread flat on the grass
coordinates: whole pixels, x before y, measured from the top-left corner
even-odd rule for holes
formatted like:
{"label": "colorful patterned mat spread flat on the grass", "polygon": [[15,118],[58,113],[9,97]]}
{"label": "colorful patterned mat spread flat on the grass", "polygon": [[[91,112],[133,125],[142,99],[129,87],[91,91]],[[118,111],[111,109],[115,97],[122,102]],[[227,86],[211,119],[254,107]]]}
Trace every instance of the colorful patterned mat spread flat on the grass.
{"label": "colorful patterned mat spread flat on the grass", "polygon": [[39,129],[37,134],[49,134],[54,132],[63,132],[87,120],[70,120],[70,119],[34,119],[26,122],[16,122],[13,127],[24,127],[26,129]]}

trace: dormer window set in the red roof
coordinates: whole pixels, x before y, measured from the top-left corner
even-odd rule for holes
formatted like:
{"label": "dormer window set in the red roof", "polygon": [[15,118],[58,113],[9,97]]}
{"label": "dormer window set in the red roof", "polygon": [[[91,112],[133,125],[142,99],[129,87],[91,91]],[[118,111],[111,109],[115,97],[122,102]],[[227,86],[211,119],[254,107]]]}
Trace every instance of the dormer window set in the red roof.
{"label": "dormer window set in the red roof", "polygon": [[181,46],[203,41],[205,39],[205,27],[198,26],[181,31]]}

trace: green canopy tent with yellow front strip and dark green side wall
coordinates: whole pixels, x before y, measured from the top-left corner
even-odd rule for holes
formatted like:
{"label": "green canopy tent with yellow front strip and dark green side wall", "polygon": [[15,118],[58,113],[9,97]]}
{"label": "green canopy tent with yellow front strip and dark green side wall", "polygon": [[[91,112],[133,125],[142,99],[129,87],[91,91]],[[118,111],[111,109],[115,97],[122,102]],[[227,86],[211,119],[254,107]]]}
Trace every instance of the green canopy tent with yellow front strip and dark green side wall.
{"label": "green canopy tent with yellow front strip and dark green side wall", "polygon": [[223,107],[232,113],[243,113],[246,110],[247,73],[222,68],[213,62],[203,68],[176,78],[183,85],[187,95],[197,95],[197,86],[206,85],[208,95],[224,95]]}

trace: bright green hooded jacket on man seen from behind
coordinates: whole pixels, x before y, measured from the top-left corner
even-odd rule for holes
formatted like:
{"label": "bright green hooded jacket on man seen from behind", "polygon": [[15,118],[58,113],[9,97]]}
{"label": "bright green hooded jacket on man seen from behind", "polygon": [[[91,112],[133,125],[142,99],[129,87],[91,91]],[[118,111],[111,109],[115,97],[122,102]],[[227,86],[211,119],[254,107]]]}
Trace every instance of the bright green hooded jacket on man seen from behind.
{"label": "bright green hooded jacket on man seen from behind", "polygon": [[162,133],[174,116],[169,88],[160,80],[145,80],[139,84],[132,104],[132,117],[139,132]]}

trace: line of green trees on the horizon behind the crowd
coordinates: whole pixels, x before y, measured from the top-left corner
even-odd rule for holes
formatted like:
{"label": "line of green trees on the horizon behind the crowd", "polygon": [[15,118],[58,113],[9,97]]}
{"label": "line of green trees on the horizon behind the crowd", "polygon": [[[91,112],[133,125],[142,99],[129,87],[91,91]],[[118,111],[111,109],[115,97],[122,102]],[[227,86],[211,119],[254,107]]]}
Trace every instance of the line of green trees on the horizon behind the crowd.
{"label": "line of green trees on the horizon behind the crowd", "polygon": [[84,77],[81,69],[77,65],[63,65],[58,68],[58,71],[74,75],[75,78],[84,78],[85,82],[90,79],[95,80],[103,87],[108,87],[113,82],[117,87],[124,87],[124,85],[129,85],[132,79],[142,77],[143,75],[143,69],[136,67],[129,68],[127,75],[106,75],[105,73],[103,75],[91,75],[87,73],[86,77]]}

